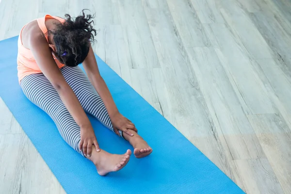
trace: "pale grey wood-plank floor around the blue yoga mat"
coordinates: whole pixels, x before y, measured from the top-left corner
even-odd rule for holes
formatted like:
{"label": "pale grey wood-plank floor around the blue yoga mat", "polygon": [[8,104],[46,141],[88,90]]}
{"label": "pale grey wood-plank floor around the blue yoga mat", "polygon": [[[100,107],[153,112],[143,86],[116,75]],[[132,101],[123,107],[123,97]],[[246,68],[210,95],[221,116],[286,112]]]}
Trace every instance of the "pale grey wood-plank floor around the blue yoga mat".
{"label": "pale grey wood-plank floor around the blue yoga mat", "polygon": [[[291,0],[1,0],[0,40],[83,8],[95,52],[242,190],[291,194]],[[0,114],[0,193],[65,193]]]}

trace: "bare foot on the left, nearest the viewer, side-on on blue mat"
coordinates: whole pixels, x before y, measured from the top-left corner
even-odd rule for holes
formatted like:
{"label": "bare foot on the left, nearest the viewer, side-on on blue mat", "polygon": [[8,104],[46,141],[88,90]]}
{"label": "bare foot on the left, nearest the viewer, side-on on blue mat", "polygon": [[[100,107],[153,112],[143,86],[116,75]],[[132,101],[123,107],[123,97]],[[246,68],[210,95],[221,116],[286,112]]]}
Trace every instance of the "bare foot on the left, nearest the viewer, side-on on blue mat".
{"label": "bare foot on the left, nearest the viewer, side-on on blue mat", "polygon": [[91,157],[86,157],[91,160],[101,176],[105,176],[110,172],[122,169],[128,162],[131,155],[131,150],[128,149],[125,154],[110,154],[101,149],[100,152],[92,147]]}

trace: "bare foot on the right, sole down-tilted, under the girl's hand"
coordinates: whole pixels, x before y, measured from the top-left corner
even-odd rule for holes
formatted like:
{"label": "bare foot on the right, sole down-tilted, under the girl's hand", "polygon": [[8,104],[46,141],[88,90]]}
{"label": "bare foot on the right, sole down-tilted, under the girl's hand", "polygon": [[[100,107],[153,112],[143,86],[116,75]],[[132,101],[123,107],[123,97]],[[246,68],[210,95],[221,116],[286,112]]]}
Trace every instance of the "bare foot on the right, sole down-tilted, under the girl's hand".
{"label": "bare foot on the right, sole down-tilted, under the girl's hand", "polygon": [[129,141],[131,146],[134,147],[133,154],[136,158],[144,158],[152,153],[153,149],[148,146],[146,141],[139,134],[134,130],[130,130],[130,132],[133,133],[133,136],[129,136],[126,133],[123,133],[123,136]]}

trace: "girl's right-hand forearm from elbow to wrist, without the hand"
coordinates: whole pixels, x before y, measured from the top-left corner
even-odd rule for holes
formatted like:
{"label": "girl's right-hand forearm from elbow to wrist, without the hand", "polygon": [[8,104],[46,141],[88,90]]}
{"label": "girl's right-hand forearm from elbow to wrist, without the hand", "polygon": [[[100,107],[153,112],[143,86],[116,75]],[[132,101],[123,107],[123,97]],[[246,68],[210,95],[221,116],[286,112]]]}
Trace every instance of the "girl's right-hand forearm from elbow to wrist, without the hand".
{"label": "girl's right-hand forearm from elbow to wrist, without the hand", "polygon": [[112,118],[118,112],[118,109],[114,103],[113,97],[110,94],[110,91],[101,76],[89,76],[90,81],[92,82],[97,93],[100,95],[103,100],[109,117]]}

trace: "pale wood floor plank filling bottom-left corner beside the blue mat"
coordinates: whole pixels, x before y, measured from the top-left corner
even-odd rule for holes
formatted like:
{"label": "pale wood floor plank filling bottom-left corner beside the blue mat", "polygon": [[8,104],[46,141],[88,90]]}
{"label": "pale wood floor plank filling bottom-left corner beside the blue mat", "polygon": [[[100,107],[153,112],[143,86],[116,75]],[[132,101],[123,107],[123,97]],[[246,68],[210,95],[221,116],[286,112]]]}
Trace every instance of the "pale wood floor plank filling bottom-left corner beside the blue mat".
{"label": "pale wood floor plank filling bottom-left corner beside the blue mat", "polygon": [[24,132],[0,134],[0,193],[65,194]]}

